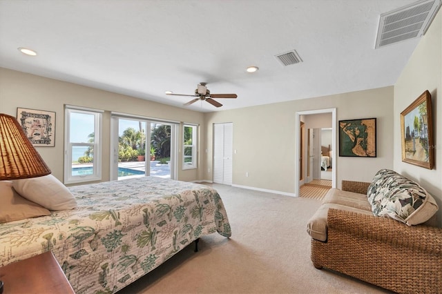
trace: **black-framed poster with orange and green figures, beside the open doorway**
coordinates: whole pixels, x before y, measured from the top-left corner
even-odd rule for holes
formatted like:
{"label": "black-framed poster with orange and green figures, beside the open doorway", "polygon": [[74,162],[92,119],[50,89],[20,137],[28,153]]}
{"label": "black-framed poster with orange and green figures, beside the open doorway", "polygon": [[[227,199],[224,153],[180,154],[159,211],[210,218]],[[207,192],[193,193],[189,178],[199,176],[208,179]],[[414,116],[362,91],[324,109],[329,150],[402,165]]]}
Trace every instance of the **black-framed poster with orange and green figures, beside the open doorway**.
{"label": "black-framed poster with orange and green figures, beside the open doorway", "polygon": [[339,121],[339,156],[376,157],[376,118]]}

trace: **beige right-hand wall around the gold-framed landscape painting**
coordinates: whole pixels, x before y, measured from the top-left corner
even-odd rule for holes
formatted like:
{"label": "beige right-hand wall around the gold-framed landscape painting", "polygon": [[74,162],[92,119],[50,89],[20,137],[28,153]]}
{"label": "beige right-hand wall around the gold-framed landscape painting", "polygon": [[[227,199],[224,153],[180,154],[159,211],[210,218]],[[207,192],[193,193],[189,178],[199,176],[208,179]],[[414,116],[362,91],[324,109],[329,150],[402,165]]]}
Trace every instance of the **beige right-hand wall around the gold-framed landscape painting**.
{"label": "beige right-hand wall around the gold-framed landscape painting", "polygon": [[[439,204],[442,226],[442,10],[419,41],[394,85],[394,170],[418,181]],[[401,112],[425,90],[432,95],[435,166],[432,170],[402,162]]]}

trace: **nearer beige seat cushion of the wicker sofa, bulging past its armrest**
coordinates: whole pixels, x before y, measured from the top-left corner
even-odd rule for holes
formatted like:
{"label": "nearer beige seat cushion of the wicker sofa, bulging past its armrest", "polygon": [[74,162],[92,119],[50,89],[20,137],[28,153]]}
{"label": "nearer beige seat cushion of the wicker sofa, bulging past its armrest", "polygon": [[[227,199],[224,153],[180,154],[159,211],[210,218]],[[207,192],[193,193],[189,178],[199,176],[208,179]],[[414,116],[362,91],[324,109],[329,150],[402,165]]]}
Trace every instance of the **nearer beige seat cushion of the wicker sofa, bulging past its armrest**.
{"label": "nearer beige seat cushion of the wicker sofa, bulging past its armrest", "polygon": [[363,213],[365,215],[373,215],[371,211],[358,209],[350,206],[340,204],[327,203],[323,204],[316,210],[316,213],[309,219],[307,223],[307,233],[318,241],[327,241],[327,214],[329,208],[336,208],[340,210],[354,211],[355,213]]}

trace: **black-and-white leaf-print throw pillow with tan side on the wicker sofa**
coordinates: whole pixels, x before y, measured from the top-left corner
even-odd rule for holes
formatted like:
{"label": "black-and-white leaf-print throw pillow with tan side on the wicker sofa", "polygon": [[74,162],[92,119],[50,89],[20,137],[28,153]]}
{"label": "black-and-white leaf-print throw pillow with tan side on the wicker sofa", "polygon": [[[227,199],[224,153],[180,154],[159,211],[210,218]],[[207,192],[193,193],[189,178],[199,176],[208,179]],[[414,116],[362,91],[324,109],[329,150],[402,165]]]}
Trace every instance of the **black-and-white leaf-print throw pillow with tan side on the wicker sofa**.
{"label": "black-and-white leaf-print throw pillow with tan side on the wicker sofa", "polygon": [[391,217],[409,226],[426,222],[439,209],[424,188],[393,170],[379,170],[367,196],[374,215]]}

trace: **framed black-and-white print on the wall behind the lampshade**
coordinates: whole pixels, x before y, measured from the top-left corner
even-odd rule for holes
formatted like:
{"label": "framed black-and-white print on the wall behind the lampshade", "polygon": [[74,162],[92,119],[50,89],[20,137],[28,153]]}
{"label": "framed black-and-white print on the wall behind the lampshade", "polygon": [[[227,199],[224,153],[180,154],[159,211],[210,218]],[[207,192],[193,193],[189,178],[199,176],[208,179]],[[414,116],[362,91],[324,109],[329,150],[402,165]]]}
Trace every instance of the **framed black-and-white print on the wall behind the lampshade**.
{"label": "framed black-and-white print on the wall behind the lampshade", "polygon": [[17,120],[33,146],[55,146],[55,112],[17,108]]}

